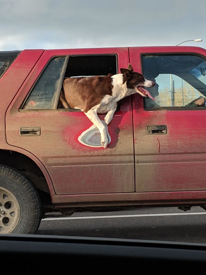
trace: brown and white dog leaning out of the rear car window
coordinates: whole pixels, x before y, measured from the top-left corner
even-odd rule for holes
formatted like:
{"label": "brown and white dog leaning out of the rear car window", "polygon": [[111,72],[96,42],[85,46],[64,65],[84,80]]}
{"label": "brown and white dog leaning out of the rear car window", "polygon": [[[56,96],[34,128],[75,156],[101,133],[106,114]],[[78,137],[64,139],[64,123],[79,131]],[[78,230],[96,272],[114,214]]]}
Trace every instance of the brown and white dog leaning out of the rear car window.
{"label": "brown and white dog leaning out of the rear car window", "polygon": [[104,148],[108,144],[107,133],[97,113],[107,113],[104,121],[108,125],[117,109],[118,101],[134,93],[152,98],[151,94],[140,86],[153,87],[155,85],[154,82],[144,79],[140,73],[134,72],[131,64],[127,69],[120,69],[120,71],[121,73],[112,76],[109,74],[66,78],[60,94],[63,108],[82,110],[99,129],[101,144]]}

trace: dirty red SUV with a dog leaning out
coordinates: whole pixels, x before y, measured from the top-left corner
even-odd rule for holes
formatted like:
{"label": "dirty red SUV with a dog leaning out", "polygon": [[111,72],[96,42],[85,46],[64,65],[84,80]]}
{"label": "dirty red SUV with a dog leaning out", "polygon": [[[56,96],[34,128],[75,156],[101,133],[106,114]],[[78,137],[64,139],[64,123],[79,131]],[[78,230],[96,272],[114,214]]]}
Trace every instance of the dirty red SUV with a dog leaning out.
{"label": "dirty red SUV with a dog leaning out", "polygon": [[[120,101],[104,149],[84,113],[59,104],[62,83],[129,62],[155,101]],[[205,209],[205,75],[199,47],[0,52],[0,233],[35,233],[54,211]]]}

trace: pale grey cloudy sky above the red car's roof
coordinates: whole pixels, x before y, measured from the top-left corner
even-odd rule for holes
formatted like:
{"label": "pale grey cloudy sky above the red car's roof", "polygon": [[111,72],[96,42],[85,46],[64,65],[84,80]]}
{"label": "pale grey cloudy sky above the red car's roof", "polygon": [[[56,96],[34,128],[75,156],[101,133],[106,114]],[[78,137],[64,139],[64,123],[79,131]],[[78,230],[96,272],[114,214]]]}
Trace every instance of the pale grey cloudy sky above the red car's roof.
{"label": "pale grey cloudy sky above the red car's roof", "polygon": [[0,51],[185,46],[206,49],[206,1],[0,0]]}

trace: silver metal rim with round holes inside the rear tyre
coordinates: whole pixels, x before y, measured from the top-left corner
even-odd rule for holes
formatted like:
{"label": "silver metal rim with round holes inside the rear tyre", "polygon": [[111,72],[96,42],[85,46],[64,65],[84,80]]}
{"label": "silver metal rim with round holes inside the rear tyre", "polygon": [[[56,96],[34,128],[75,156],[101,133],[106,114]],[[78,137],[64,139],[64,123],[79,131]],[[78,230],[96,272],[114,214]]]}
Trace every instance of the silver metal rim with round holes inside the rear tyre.
{"label": "silver metal rim with round holes inside the rear tyre", "polygon": [[20,205],[16,196],[0,186],[0,234],[9,234],[19,223]]}

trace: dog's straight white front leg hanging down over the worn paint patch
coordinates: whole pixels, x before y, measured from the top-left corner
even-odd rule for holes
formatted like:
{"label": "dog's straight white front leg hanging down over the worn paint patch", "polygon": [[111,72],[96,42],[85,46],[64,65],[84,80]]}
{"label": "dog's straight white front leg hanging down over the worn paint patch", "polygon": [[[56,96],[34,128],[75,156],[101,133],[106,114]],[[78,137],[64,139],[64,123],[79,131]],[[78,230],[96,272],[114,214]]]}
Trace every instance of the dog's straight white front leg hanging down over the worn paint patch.
{"label": "dog's straight white front leg hanging down over the worn paint patch", "polygon": [[98,118],[97,112],[94,110],[89,110],[87,113],[85,113],[85,115],[99,129],[99,132],[101,134],[101,144],[104,148],[106,148],[108,144],[107,131],[102,121]]}

